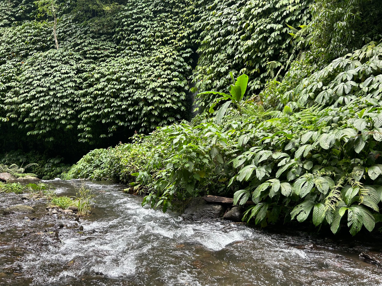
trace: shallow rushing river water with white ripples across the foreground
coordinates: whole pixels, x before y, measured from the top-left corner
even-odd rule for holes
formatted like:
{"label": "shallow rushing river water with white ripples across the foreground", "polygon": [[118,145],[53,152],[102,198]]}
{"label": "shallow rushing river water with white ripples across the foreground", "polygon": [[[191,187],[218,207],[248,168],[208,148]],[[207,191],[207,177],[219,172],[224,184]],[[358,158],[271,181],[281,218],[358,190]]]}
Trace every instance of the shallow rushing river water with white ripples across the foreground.
{"label": "shallow rushing river water with white ripples across the foreground", "polygon": [[[79,180],[52,180],[73,195]],[[222,220],[188,222],[142,208],[122,186],[85,182],[95,194],[89,217],[2,215],[0,285],[382,285],[381,268],[358,258],[370,246],[341,246],[304,233],[270,233]],[[0,208],[23,203],[0,194]],[[65,225],[65,227],[60,226]],[[295,247],[315,243],[317,247]]]}

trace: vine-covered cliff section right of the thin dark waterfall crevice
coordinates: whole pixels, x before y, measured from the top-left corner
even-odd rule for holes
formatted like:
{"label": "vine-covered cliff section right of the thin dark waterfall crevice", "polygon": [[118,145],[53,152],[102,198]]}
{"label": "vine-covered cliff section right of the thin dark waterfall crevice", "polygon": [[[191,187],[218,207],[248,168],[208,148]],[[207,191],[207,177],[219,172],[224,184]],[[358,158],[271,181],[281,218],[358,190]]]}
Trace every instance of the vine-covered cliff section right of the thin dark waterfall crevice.
{"label": "vine-covered cliff section right of the thin dark waterfall crevice", "polygon": [[[230,83],[228,72],[249,76],[248,94],[258,91],[269,79],[267,65],[286,64],[297,40],[287,24],[308,24],[312,1],[253,0],[203,1],[199,60],[193,72],[199,92],[223,91]],[[296,55],[294,55],[296,57]],[[208,109],[214,97],[199,95],[197,105]]]}

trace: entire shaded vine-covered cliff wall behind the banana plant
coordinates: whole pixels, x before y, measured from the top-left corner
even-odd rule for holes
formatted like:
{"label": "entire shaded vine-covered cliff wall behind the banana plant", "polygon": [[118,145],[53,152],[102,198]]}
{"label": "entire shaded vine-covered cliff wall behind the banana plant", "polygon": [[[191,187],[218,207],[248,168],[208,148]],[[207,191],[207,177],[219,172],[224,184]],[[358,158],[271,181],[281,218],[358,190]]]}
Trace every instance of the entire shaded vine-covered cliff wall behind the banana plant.
{"label": "entire shaded vine-covered cliff wall behind the banana plant", "polygon": [[209,96],[192,106],[190,87],[225,89],[228,71],[250,75],[249,95],[268,62],[293,57],[286,24],[307,24],[309,4],[3,1],[2,149],[64,155],[126,141],[208,109]]}

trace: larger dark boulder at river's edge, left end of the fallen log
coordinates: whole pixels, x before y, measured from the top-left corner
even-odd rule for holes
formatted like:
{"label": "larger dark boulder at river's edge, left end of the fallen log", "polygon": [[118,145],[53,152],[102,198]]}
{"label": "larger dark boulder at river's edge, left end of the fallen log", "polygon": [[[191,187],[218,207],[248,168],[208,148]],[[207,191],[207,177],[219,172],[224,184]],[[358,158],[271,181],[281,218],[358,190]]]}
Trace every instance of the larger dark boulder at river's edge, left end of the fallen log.
{"label": "larger dark boulder at river's edge, left end of the fallen log", "polygon": [[202,198],[193,198],[187,205],[182,217],[190,220],[217,219],[223,213],[224,207],[222,205],[207,204]]}

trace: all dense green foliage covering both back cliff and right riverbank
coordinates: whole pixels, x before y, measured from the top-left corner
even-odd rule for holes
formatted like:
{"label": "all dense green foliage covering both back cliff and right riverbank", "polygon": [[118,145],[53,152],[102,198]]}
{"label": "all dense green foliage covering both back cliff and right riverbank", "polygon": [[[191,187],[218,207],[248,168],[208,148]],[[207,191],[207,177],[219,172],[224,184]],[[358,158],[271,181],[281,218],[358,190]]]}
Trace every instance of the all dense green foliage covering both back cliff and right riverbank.
{"label": "all dense green foliage covering both back cliff and right riverbank", "polygon": [[[58,49],[54,21],[33,7],[19,24],[2,24],[5,145],[97,146],[137,130],[62,177],[129,183],[143,205],[163,211],[218,194],[252,200],[244,220],[262,227],[374,229],[381,1],[110,3],[59,6]],[[25,42],[21,33],[34,36]],[[191,92],[201,112],[193,119]]]}

